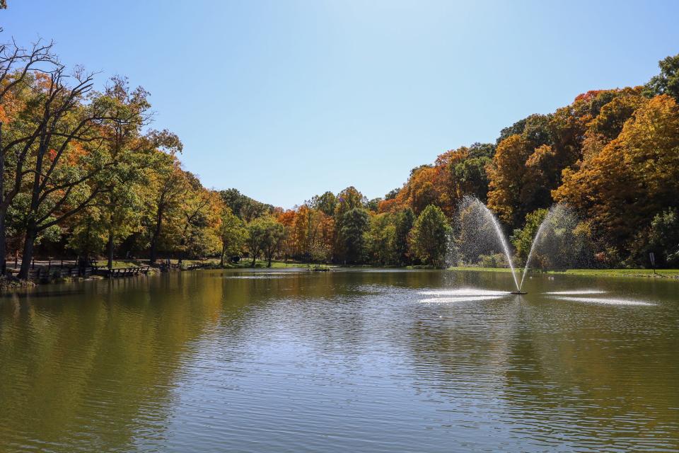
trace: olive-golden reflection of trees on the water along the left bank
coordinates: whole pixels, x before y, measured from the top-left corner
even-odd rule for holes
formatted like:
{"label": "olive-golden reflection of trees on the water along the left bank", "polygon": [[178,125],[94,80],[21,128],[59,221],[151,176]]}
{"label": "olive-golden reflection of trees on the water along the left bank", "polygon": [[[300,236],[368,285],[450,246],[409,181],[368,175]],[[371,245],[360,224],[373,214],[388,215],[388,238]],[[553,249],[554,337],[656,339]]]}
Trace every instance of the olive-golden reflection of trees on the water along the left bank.
{"label": "olive-golden reflection of trees on the water along the left bank", "polygon": [[1,300],[0,450],[17,436],[57,451],[109,451],[140,431],[162,432],[187,343],[221,304],[221,282],[176,277]]}

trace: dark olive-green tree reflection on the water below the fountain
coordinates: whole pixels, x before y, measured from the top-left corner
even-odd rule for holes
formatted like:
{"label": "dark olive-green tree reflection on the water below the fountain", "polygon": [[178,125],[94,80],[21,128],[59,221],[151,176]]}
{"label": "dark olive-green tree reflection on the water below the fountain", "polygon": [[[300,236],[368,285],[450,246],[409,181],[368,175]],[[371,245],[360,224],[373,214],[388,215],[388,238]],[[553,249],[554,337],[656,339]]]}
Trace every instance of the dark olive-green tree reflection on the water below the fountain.
{"label": "dark olive-green tree reflection on the water below the fountain", "polygon": [[678,344],[662,329],[649,336],[654,316],[587,304],[523,311],[509,336],[504,401],[564,440],[576,429],[618,447],[630,433],[648,448],[663,437],[678,447]]}

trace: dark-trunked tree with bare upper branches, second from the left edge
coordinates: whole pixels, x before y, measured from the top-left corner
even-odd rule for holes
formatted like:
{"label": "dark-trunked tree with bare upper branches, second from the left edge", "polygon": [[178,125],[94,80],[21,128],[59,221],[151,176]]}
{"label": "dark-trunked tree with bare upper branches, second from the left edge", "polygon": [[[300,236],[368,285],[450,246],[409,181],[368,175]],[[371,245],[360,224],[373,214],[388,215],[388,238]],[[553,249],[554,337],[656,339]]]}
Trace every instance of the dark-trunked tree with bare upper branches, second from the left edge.
{"label": "dark-trunked tree with bare upper branches, second from the left edge", "polygon": [[[27,278],[35,239],[40,231],[92,205],[107,190],[105,177],[115,171],[117,156],[102,146],[98,129],[115,114],[110,98],[91,93],[93,77],[76,71],[66,84],[59,67],[35,79],[33,121],[37,134],[15,161],[17,180],[28,178],[28,209],[19,277]],[[34,146],[35,145],[35,146]]]}

